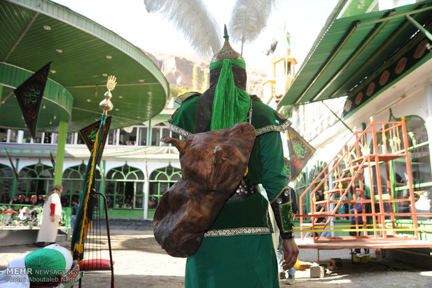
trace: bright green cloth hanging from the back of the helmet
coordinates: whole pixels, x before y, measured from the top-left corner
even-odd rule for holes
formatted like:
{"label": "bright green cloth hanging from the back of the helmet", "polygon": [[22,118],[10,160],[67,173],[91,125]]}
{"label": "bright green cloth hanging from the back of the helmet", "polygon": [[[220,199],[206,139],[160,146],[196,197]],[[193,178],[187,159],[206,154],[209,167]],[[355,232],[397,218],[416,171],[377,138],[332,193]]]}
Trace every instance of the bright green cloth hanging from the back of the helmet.
{"label": "bright green cloth hanging from the back of the helmet", "polygon": [[210,70],[222,66],[213,99],[210,130],[226,129],[237,122],[247,121],[250,97],[245,90],[236,87],[231,64],[245,68],[243,60],[224,59],[210,64]]}

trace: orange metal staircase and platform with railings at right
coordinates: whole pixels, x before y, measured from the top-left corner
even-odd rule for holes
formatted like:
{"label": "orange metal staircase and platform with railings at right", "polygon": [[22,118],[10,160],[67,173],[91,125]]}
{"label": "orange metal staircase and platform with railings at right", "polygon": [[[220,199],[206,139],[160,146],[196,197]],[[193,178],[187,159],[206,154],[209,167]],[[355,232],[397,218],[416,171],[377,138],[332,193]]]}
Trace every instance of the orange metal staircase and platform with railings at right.
{"label": "orange metal staircase and platform with railings at right", "polygon": [[[368,144],[371,143],[371,149]],[[373,122],[364,131],[355,131],[345,145],[300,195],[303,207],[310,198],[310,213],[300,211],[300,248],[419,248],[432,246],[422,241],[415,200],[421,191],[414,191],[406,123]],[[407,177],[408,195],[396,197],[391,176],[392,161],[403,161]],[[384,173],[383,173],[384,172]],[[369,183],[369,195],[365,184]],[[360,189],[360,195],[350,193]],[[318,193],[317,193],[318,192]],[[323,192],[323,199],[319,199]],[[318,198],[317,198],[318,195]],[[345,211],[341,211],[343,205]],[[350,209],[350,205],[353,209]],[[407,211],[398,211],[404,205]],[[348,209],[350,211],[348,211]],[[332,225],[334,219],[351,218],[350,225]],[[410,227],[399,225],[400,218],[412,219]],[[350,236],[322,237],[323,232],[350,232]],[[406,234],[411,232],[411,234]]]}

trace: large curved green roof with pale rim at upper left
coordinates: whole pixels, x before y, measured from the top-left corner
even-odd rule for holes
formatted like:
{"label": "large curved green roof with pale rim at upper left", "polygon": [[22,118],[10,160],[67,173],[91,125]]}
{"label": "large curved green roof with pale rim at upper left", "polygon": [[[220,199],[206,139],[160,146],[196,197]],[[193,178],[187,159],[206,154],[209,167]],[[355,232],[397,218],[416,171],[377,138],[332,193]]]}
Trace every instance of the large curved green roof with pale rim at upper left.
{"label": "large curved green roof with pale rim at upper left", "polygon": [[[65,6],[47,0],[0,0],[0,29],[2,98],[30,72],[52,61],[39,130],[55,130],[63,120],[68,121],[69,131],[77,131],[100,120],[99,102],[109,75],[117,79],[111,99],[114,109],[109,111],[112,128],[144,122],[164,108],[169,83],[150,58]],[[25,128],[13,97],[0,105],[0,113],[9,115],[7,120],[0,118],[0,127]]]}

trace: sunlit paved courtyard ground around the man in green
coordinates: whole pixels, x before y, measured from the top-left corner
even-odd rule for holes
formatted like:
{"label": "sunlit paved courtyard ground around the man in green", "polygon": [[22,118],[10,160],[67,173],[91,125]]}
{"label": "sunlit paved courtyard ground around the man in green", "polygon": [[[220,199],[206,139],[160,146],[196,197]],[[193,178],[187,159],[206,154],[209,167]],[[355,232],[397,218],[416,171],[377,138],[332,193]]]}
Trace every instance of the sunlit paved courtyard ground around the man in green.
{"label": "sunlit paved courtyard ground around the man in green", "polygon": [[[185,259],[167,255],[151,231],[111,231],[116,287],[184,287]],[[61,246],[70,248],[68,241]],[[31,245],[0,246],[0,270],[8,261],[38,249]],[[350,262],[350,250],[320,250],[321,262],[340,258],[340,269],[328,271],[325,278],[310,278],[310,271],[297,271],[292,287],[431,287],[431,271],[415,269],[389,261],[367,264]],[[318,259],[316,249],[300,250],[300,264],[307,266]],[[109,287],[109,273],[86,273],[84,287]],[[291,287],[281,281],[281,287]]]}

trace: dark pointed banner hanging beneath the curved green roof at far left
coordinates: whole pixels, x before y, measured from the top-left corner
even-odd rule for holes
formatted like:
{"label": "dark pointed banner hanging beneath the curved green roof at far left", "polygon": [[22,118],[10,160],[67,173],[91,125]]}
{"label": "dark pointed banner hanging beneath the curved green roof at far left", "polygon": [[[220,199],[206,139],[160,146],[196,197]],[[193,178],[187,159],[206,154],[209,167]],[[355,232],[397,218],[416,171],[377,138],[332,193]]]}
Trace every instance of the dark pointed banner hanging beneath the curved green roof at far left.
{"label": "dark pointed banner hanging beneath the curved green roof at far left", "polygon": [[13,92],[17,96],[18,103],[24,116],[27,128],[33,140],[36,140],[36,124],[38,122],[38,114],[40,103],[42,103],[43,91],[47,84],[49,67],[51,62],[45,65],[32,77],[27,79],[20,87]]}

